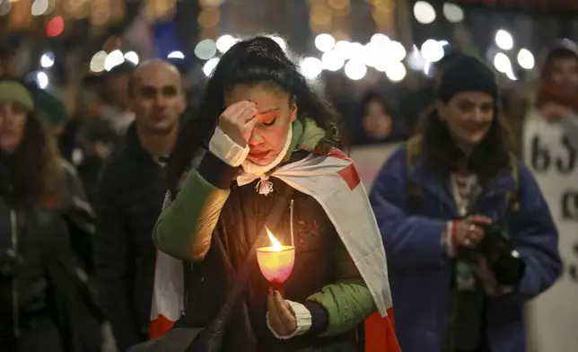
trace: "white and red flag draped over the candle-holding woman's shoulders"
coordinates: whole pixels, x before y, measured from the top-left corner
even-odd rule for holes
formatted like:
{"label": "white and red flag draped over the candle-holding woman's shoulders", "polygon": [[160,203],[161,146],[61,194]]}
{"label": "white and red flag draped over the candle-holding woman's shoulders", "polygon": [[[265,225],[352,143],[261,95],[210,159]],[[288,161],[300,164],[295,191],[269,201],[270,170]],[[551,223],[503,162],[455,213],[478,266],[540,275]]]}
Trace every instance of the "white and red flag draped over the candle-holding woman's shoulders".
{"label": "white and red flag draped over the candle-holding woman's shoulders", "polygon": [[[385,251],[367,193],[346,154],[332,148],[328,155],[310,154],[286,164],[269,177],[284,181],[320,203],[336,228],[372,293],[378,313],[365,321],[366,351],[400,351],[393,330],[393,309]],[[240,186],[258,179],[243,174]],[[267,177],[261,177],[267,181]],[[160,253],[154,276],[152,339],[171,329],[183,310],[182,262]]]}

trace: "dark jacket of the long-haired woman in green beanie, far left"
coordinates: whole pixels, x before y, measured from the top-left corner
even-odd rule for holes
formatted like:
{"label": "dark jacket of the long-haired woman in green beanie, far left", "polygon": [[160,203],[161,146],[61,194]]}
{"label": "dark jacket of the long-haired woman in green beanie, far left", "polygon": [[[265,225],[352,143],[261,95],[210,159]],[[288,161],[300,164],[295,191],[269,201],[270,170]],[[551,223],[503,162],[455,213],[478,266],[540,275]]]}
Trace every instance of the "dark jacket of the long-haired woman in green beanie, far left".
{"label": "dark jacket of the long-haired woman in green beanie, far left", "polygon": [[86,275],[93,270],[92,207],[72,166],[62,167],[58,197],[36,206],[14,198],[0,172],[0,337],[24,336],[49,316],[65,351],[97,351],[101,312]]}

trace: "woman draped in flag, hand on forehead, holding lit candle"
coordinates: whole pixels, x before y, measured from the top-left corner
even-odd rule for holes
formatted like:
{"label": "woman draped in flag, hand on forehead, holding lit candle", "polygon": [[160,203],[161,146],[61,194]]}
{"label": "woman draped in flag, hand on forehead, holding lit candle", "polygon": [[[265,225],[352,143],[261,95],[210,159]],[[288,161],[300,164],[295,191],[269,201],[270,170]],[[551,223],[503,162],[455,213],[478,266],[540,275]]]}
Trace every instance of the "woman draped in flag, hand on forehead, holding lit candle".
{"label": "woman draped in flag, hand on forehead, holding lit candle", "polygon": [[[193,263],[177,325],[206,328],[223,320],[224,330],[215,331],[223,345],[212,350],[363,350],[357,329],[377,309],[385,315],[390,307],[387,268],[353,164],[334,147],[339,144],[334,111],[274,40],[256,37],[223,55],[198,116],[182,129],[171,155],[168,203],[153,233],[160,251]],[[208,152],[191,169],[203,141]],[[346,183],[337,174],[341,169],[357,181]],[[284,170],[298,174],[296,182],[302,183],[284,179]],[[336,220],[337,207],[346,211],[336,199],[346,196],[367,207],[359,204],[353,219]],[[268,243],[259,235],[266,222],[285,243],[292,241],[283,229],[294,226],[298,254],[285,295],[267,288],[253,260],[256,245]],[[232,286],[239,285],[245,294],[230,301]],[[219,313],[237,301],[240,308],[230,317]],[[204,331],[206,338],[195,339],[192,350],[206,350],[213,330]],[[397,342],[391,346],[379,350],[398,351]]]}

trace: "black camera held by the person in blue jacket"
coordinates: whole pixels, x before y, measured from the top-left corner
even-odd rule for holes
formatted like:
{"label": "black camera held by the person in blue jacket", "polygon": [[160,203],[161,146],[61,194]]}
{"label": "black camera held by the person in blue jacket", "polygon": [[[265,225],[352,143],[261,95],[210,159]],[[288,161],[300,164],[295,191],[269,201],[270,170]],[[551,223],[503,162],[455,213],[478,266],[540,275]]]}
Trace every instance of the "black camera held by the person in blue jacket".
{"label": "black camera held by the person in blue jacket", "polygon": [[502,286],[513,286],[521,281],[526,271],[526,263],[520,253],[513,248],[512,239],[497,224],[483,227],[484,238],[476,248],[464,252],[467,260],[475,260],[477,254],[483,254],[487,266],[492,270],[495,280]]}

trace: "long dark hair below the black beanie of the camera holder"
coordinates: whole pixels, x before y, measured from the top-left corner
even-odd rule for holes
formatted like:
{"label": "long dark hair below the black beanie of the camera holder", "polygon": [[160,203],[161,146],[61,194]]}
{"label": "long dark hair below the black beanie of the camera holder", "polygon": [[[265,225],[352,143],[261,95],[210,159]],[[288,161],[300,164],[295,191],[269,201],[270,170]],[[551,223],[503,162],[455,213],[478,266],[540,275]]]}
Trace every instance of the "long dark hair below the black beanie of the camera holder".
{"label": "long dark hair below the black beanie of the camera holder", "polygon": [[[447,103],[447,101],[445,102]],[[435,108],[425,116],[422,127],[422,152],[425,165],[442,177],[460,169],[465,155],[453,142],[445,122]],[[510,166],[511,131],[494,103],[494,119],[484,139],[469,156],[467,168],[475,172],[482,184],[494,179]]]}

